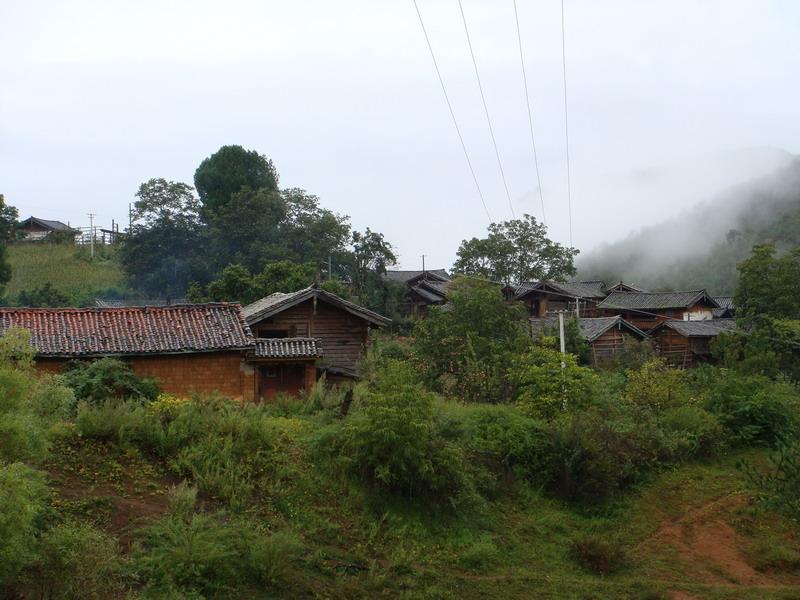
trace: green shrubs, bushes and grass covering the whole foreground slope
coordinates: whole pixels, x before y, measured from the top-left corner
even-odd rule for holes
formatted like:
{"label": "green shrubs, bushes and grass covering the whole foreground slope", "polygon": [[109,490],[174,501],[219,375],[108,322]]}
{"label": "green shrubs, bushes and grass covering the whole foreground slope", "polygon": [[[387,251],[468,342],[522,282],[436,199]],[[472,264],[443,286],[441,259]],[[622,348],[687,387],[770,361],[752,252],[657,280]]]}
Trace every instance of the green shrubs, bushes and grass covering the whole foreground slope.
{"label": "green shrubs, bushes and grass covering the whole foreground slope", "polygon": [[[753,261],[742,281],[757,268],[770,289],[794,268]],[[752,368],[760,347],[741,368],[594,370],[525,335],[496,285],[451,293],[409,338],[374,340],[352,401],[324,381],[273,404],[179,399],[112,359],[36,375],[9,332],[0,597],[796,593],[791,372]]]}

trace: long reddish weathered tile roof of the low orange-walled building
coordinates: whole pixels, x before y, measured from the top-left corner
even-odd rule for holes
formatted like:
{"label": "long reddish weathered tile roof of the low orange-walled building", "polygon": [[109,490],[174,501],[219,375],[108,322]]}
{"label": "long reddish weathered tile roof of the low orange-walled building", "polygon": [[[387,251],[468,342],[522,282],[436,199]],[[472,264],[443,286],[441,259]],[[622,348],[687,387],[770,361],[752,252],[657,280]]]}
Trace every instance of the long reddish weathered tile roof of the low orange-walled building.
{"label": "long reddish weathered tile roof of the low orange-walled building", "polygon": [[129,308],[0,308],[0,334],[31,332],[40,356],[236,350],[253,338],[238,304]]}

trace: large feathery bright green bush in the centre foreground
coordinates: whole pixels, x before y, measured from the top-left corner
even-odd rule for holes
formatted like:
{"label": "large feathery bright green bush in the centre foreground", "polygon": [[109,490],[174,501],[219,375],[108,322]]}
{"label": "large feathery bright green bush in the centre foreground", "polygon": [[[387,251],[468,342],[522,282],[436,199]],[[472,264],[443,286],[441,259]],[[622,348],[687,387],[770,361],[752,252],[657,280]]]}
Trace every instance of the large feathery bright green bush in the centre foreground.
{"label": "large feathery bright green bush in the centre foreground", "polygon": [[328,428],[319,448],[381,492],[455,506],[471,490],[466,456],[443,435],[436,395],[407,383],[411,377],[405,364],[390,362],[377,389]]}

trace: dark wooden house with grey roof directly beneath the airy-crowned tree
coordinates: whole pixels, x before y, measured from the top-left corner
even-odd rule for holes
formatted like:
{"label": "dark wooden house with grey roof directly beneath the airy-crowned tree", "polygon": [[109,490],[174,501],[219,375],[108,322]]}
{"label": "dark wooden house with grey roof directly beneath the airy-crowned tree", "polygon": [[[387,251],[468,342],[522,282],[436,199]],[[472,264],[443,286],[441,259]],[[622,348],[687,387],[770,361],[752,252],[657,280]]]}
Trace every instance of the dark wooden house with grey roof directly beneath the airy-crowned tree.
{"label": "dark wooden house with grey roof directly beneath the airy-crowned tree", "polygon": [[507,285],[503,293],[508,300],[525,304],[531,317],[542,318],[560,311],[580,317],[596,317],[597,303],[606,297],[603,281],[531,281]]}

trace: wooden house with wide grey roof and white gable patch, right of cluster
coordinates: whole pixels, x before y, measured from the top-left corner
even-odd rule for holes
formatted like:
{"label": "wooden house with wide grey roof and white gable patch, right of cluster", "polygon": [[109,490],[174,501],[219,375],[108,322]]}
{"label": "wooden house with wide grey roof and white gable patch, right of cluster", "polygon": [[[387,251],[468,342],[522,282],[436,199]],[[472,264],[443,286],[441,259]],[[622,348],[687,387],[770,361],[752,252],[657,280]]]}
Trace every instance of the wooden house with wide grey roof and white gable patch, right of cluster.
{"label": "wooden house with wide grey roof and white gable patch, right of cluster", "polygon": [[600,316],[619,315],[643,331],[666,320],[702,321],[720,308],[705,290],[688,292],[612,292],[597,304]]}

